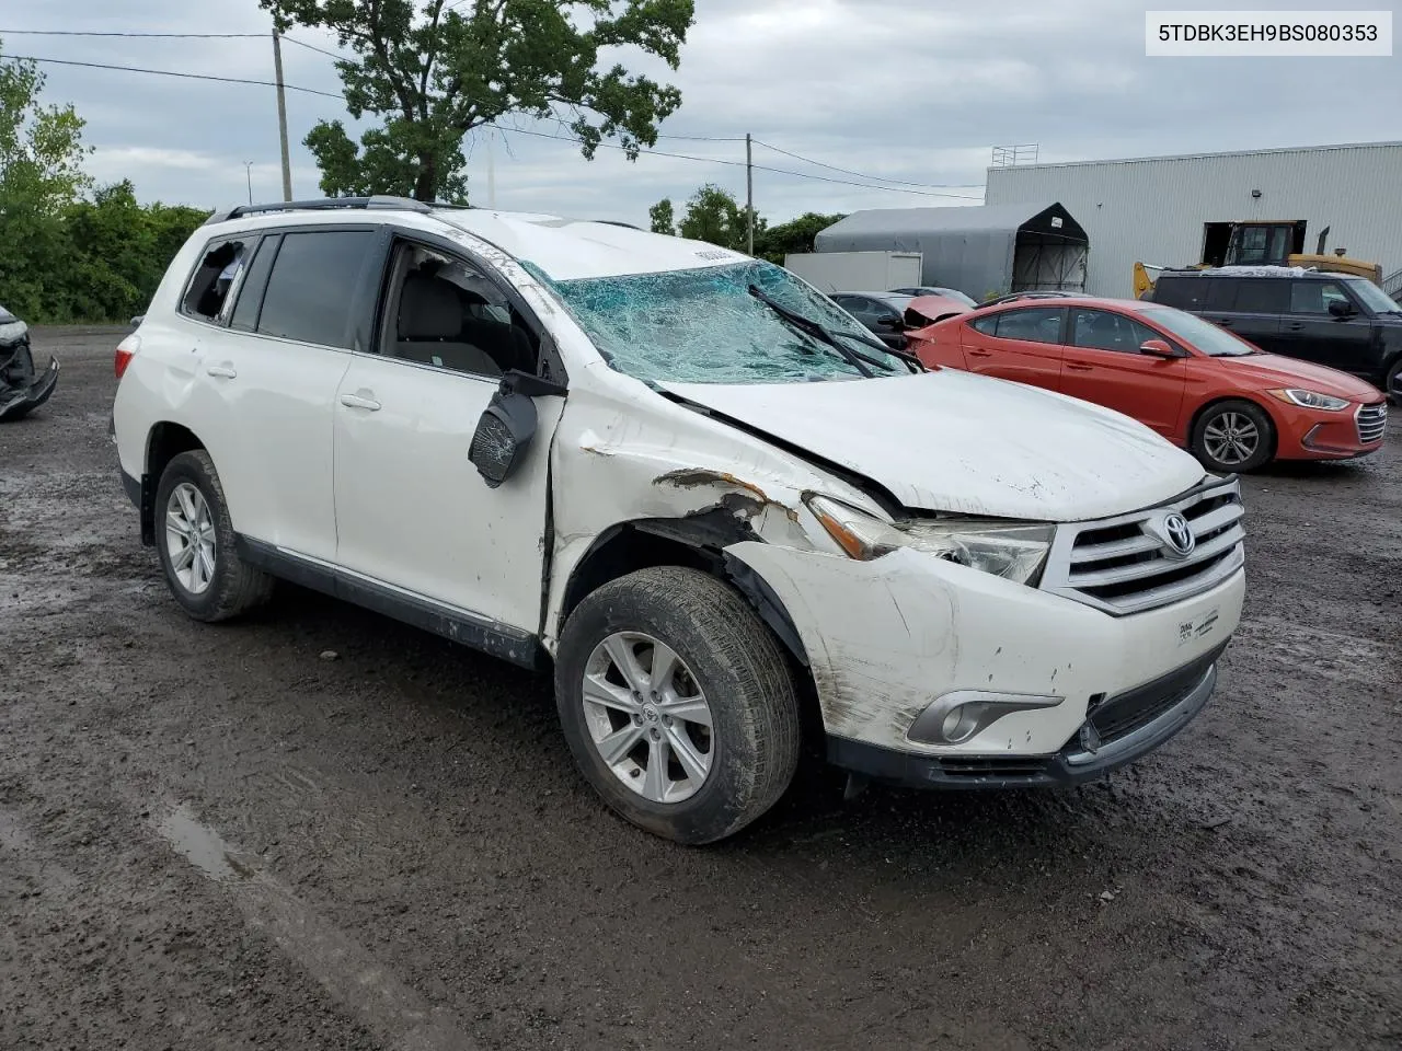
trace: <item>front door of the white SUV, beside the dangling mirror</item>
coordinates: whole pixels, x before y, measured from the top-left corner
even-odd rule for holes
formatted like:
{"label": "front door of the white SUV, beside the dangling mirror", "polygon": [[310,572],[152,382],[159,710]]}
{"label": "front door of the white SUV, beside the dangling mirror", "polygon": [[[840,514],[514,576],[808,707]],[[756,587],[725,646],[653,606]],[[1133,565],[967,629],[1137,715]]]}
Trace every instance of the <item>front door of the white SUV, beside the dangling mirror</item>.
{"label": "front door of the white SUV, beside the dangling mirror", "polygon": [[540,629],[547,465],[561,398],[516,474],[489,489],[468,461],[477,422],[538,343],[484,266],[397,244],[379,353],[336,391],[336,563],[411,598]]}

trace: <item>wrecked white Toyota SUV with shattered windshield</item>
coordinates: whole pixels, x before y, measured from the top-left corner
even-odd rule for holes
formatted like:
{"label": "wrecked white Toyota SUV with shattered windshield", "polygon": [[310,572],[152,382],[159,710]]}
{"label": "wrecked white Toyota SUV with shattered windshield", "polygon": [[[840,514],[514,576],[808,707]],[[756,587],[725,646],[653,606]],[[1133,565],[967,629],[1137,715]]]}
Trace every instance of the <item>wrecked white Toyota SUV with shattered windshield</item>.
{"label": "wrecked white Toyota SUV with shattered windshield", "polygon": [[858,778],[1099,776],[1202,709],[1241,614],[1234,479],[624,226],[238,207],[116,371],[123,482],[192,617],[285,577],[552,660],[585,776],[683,842],[773,806],[805,724]]}

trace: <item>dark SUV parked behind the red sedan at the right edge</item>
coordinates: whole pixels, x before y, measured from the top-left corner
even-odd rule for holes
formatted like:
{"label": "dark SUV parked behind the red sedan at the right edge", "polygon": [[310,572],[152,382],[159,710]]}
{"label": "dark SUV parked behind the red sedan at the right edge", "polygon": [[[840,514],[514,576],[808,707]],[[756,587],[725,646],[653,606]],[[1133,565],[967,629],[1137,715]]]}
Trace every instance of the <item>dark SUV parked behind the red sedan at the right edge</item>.
{"label": "dark SUV parked behind the red sedan at the right edge", "polygon": [[1364,277],[1286,266],[1166,270],[1145,298],[1402,397],[1402,307]]}

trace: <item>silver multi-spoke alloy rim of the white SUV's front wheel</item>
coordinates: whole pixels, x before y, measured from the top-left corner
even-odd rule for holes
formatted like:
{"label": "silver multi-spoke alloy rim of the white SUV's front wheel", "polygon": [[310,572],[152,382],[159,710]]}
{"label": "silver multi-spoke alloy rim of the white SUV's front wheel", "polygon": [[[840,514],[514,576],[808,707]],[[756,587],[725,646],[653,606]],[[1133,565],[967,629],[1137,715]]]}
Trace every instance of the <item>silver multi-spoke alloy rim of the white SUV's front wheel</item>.
{"label": "silver multi-spoke alloy rim of the white SUV's front wheel", "polygon": [[711,706],[686,661],[660,639],[617,632],[585,664],[585,724],[614,776],[652,803],[680,803],[715,758]]}

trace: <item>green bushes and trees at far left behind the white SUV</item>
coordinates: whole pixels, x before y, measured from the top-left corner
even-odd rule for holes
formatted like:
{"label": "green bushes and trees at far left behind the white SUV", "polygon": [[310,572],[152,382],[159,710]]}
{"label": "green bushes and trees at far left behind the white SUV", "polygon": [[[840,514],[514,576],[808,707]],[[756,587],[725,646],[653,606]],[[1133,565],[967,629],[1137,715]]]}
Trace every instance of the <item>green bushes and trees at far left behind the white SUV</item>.
{"label": "green bushes and trees at far left behind the white SUV", "polygon": [[83,121],[43,107],[32,63],[0,62],[0,304],[29,322],[125,321],[146,308],[207,212],[140,206],[130,182],[83,193]]}

